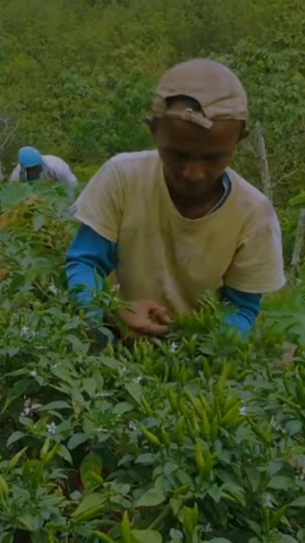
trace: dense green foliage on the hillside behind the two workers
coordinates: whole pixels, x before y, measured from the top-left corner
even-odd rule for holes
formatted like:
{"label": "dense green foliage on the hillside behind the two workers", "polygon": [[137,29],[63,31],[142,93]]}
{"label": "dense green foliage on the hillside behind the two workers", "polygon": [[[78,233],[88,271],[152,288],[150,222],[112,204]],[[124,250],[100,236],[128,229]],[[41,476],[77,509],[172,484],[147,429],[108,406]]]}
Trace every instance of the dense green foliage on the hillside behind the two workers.
{"label": "dense green foliage on the hillside behind the two workers", "polygon": [[[2,149],[62,156],[87,181],[107,157],[151,146],[141,118],[162,72],[212,56],[240,75],[250,128],[266,131],[277,203],[303,182],[304,5],[300,0],[14,0],[0,3],[0,118],[17,129]],[[0,152],[1,152],[0,122]],[[238,167],[259,184],[255,137]]]}

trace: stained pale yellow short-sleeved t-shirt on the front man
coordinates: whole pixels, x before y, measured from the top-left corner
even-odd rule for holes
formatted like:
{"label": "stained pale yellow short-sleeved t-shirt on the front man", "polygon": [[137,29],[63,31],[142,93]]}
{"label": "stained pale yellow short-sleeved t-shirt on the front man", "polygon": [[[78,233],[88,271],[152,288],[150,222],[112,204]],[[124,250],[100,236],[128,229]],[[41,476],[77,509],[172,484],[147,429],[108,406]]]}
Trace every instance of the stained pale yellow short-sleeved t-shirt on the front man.
{"label": "stained pale yellow short-sleeved t-shirt on the front man", "polygon": [[223,285],[249,293],[284,285],[281,231],[269,200],[231,168],[231,192],[216,211],[182,217],[170,199],[157,151],[113,157],[72,206],[81,223],[118,244],[125,300],[150,299],[191,313]]}

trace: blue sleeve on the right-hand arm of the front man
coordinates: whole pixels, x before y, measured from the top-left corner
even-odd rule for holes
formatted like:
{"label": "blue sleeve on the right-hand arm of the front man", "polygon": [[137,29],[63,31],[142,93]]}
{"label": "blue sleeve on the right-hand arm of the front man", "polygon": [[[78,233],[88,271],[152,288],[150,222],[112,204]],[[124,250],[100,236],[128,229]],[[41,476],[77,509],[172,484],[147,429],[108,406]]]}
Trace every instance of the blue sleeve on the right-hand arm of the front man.
{"label": "blue sleeve on the right-hand arm of the front man", "polygon": [[229,302],[234,311],[226,317],[224,325],[232,326],[246,339],[251,327],[255,325],[261,298],[262,294],[237,291],[235,288],[225,286],[222,299]]}

